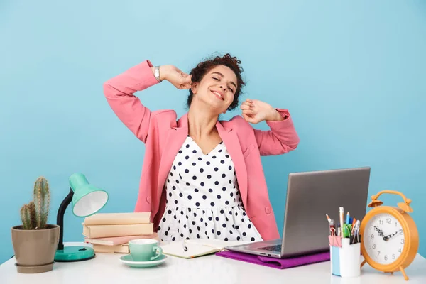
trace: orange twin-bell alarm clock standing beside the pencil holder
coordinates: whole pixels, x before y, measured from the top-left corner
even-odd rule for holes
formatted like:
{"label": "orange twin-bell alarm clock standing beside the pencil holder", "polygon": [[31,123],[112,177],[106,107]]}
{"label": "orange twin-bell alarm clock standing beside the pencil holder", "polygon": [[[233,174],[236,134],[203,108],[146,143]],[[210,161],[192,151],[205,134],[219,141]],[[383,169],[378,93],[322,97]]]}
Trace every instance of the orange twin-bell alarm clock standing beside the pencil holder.
{"label": "orange twin-bell alarm clock standing beside the pencil holder", "polygon": [[[377,199],[383,193],[400,195],[404,202],[399,202],[398,207],[381,206],[383,202]],[[373,209],[362,219],[360,227],[361,253],[364,256],[361,267],[368,263],[384,273],[401,271],[408,280],[404,268],[413,262],[419,247],[417,226],[408,214],[413,212],[411,200],[393,190],[378,192],[371,199],[368,207]]]}

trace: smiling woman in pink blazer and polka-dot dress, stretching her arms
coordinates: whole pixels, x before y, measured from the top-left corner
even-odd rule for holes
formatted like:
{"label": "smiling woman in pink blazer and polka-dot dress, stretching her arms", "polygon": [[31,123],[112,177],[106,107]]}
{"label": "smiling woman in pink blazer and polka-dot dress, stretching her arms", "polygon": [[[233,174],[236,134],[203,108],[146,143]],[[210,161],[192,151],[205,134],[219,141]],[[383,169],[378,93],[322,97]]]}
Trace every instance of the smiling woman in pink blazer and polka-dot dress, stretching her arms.
{"label": "smiling woman in pink blazer and polka-dot dress, stretching her arms", "polygon": [[[104,83],[119,119],[146,144],[136,212],[151,212],[163,241],[279,238],[261,155],[294,150],[299,138],[290,114],[247,99],[241,116],[219,115],[239,106],[241,61],[226,54],[200,62],[190,74],[149,60]],[[166,80],[189,89],[189,111],[150,111],[135,92]],[[160,97],[166,99],[166,97]],[[249,124],[266,121],[271,130]]]}

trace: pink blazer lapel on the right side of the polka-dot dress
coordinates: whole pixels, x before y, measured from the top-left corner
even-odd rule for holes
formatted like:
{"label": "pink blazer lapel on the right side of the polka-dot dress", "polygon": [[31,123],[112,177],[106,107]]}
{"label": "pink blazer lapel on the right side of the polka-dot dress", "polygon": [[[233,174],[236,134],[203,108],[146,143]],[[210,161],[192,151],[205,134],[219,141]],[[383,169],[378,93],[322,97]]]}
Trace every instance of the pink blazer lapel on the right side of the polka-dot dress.
{"label": "pink blazer lapel on the right side of the polka-dot dress", "polygon": [[241,151],[239,138],[236,135],[236,132],[232,131],[232,129],[224,129],[224,126],[222,126],[219,121],[217,121],[216,128],[219,132],[219,136],[222,138],[222,141],[224,141],[229,155],[231,155],[232,161],[234,162],[241,200],[243,201],[244,206],[246,206],[248,188],[247,169],[246,164],[244,163],[244,156],[243,152]]}

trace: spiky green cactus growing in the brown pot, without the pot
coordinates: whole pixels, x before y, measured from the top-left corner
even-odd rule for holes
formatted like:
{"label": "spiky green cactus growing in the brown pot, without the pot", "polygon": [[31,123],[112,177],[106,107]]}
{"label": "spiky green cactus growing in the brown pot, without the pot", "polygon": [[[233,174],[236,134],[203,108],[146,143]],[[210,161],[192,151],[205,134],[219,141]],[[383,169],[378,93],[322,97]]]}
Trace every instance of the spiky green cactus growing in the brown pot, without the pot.
{"label": "spiky green cactus growing in the brown pot, without the pot", "polygon": [[45,229],[48,222],[50,191],[48,180],[40,177],[35,180],[33,201],[21,208],[23,229]]}

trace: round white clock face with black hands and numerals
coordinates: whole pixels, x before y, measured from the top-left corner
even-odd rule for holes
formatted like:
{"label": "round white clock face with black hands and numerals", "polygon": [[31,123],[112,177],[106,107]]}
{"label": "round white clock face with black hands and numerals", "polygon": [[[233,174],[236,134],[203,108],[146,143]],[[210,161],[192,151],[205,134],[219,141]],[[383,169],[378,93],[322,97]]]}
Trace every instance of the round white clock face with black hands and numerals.
{"label": "round white clock face with black hands and numerals", "polygon": [[404,249],[403,227],[391,214],[372,217],[365,226],[362,238],[368,256],[382,265],[395,262]]}

